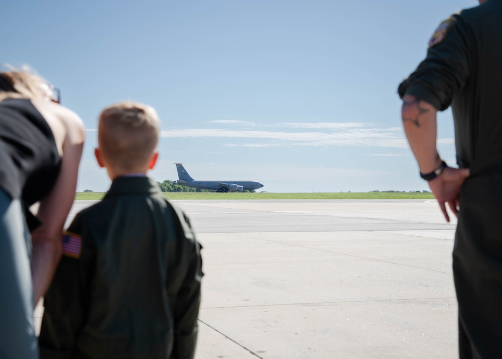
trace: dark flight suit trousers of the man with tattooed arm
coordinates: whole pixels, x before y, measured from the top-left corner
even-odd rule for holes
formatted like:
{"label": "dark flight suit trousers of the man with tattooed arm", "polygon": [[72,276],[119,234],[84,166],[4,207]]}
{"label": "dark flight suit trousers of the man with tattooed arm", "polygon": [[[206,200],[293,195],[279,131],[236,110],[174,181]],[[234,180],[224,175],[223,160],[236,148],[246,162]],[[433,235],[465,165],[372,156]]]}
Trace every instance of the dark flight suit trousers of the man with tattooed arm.
{"label": "dark flight suit trousers of the man with tattooed arm", "polygon": [[502,175],[468,178],[453,249],[460,358],[502,357]]}

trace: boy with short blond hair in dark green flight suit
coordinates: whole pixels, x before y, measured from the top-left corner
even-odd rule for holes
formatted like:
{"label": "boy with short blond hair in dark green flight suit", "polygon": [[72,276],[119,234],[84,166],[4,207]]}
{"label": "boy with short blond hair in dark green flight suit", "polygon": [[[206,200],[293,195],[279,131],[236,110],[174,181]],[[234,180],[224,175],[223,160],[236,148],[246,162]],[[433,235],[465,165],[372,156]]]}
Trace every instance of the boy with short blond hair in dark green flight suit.
{"label": "boy with short blond hair in dark green flight suit", "polygon": [[138,103],[99,116],[95,156],[111,187],[77,214],[45,295],[41,358],[193,358],[202,277],[188,218],[146,173],[159,119]]}

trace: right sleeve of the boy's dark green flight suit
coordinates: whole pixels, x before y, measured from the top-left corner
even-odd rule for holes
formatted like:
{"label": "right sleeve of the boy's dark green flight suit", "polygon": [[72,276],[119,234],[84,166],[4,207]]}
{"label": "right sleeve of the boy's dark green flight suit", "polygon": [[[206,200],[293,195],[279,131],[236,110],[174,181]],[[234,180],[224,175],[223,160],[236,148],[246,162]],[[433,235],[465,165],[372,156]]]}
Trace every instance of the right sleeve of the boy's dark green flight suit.
{"label": "right sleeve of the boy's dark green flight suit", "polygon": [[197,343],[197,319],[199,316],[200,290],[202,280],[201,245],[197,242],[190,222],[183,212],[175,209],[181,224],[179,238],[183,244],[180,265],[184,277],[178,290],[174,316],[174,345],[171,359],[192,359]]}

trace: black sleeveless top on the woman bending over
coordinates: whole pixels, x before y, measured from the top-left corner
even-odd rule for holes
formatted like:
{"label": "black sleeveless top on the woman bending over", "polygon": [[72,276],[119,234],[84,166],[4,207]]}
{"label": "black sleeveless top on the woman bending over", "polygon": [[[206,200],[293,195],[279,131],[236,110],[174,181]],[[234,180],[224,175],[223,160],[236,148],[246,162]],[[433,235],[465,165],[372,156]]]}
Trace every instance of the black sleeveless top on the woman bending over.
{"label": "black sleeveless top on the woman bending over", "polygon": [[[31,101],[0,102],[0,188],[31,206],[52,190],[60,167],[52,130]],[[32,229],[31,217],[27,213]]]}

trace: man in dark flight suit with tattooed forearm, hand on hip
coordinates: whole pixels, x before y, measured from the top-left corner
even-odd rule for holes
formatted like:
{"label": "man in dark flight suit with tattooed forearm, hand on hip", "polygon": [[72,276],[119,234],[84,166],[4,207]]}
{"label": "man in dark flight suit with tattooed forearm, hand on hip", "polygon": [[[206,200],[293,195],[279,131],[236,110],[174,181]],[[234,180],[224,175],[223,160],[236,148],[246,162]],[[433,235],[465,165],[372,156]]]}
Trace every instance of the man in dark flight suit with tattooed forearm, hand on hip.
{"label": "man in dark flight suit with tattooed forearm, hand on hip", "polygon": [[[403,126],[449,221],[458,216],[453,274],[461,358],[502,357],[502,0],[443,21],[427,57],[399,86]],[[451,105],[457,164],[436,150],[436,113]]]}

